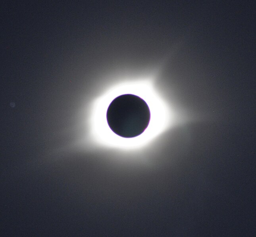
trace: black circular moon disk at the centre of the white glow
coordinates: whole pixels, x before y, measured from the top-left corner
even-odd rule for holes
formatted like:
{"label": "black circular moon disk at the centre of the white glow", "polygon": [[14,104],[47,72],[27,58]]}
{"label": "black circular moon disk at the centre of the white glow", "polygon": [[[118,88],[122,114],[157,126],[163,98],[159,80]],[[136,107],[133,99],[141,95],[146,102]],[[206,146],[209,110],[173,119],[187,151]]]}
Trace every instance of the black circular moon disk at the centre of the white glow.
{"label": "black circular moon disk at the centre of the white glow", "polygon": [[110,129],[121,137],[137,137],[148,127],[150,110],[144,100],[126,94],[115,98],[108,106]]}

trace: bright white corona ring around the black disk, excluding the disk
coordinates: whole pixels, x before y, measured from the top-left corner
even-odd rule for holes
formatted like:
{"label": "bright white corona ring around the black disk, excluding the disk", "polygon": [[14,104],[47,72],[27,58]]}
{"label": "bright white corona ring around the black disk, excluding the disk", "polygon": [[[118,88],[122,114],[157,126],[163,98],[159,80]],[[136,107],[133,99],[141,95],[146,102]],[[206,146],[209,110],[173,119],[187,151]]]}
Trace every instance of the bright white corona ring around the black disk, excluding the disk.
{"label": "bright white corona ring around the black disk, excluding the disk", "polygon": [[[116,135],[108,126],[106,113],[108,106],[119,95],[133,94],[141,97],[150,109],[150,122],[139,136],[124,138]],[[92,103],[90,112],[90,137],[99,146],[120,149],[135,149],[146,146],[171,125],[169,106],[154,89],[153,80],[129,80],[110,86]]]}

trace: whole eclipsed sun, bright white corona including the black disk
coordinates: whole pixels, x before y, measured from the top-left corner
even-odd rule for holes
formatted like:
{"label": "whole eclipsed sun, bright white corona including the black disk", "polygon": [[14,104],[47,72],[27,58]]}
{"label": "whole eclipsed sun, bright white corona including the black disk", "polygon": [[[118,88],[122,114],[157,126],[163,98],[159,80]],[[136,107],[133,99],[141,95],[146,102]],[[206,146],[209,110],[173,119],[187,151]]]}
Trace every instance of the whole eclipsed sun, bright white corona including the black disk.
{"label": "whole eclipsed sun, bright white corona including the black disk", "polygon": [[168,129],[171,113],[153,80],[125,80],[94,99],[88,125],[99,148],[140,149]]}

